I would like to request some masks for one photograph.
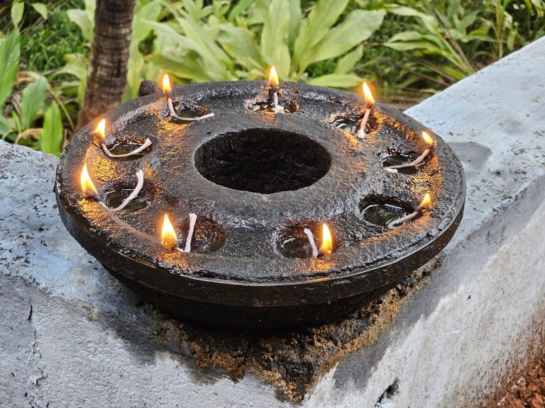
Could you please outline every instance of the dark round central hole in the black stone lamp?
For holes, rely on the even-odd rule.
[[[278,193],[310,186],[326,175],[329,153],[293,132],[248,129],[215,137],[195,152],[195,166],[220,186]]]

